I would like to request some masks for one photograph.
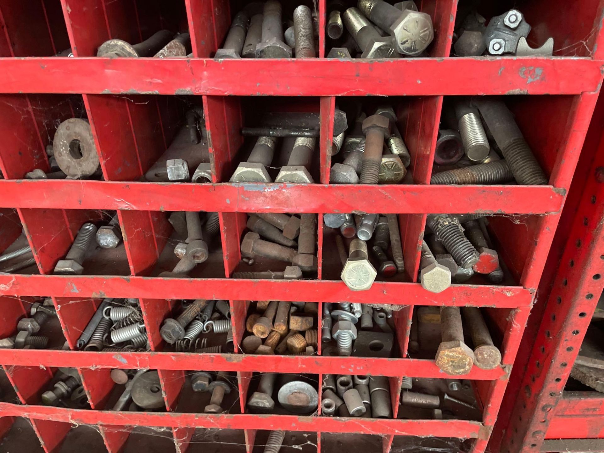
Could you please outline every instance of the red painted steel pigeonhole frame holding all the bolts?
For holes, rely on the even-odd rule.
[[[0,350],[0,363],[24,403],[0,403],[0,420],[4,422],[1,431],[10,426],[11,417],[28,417],[47,452],[59,450],[72,423],[99,425],[104,444],[112,453],[123,450],[129,427],[137,425],[172,428],[178,452],[187,450],[196,427],[243,430],[248,453],[254,448],[258,429],[316,433],[317,451],[321,451],[321,432],[357,432],[382,435],[384,453],[390,451],[395,435],[475,439],[472,452],[484,452],[602,83],[602,0],[586,1],[582,20],[574,27],[559,23],[560,15],[570,17],[570,11],[574,11],[572,5],[567,5],[570,2],[558,5],[557,14],[553,15],[548,2],[535,0],[527,5],[527,20],[538,25],[533,27],[538,40],[544,40],[542,30],[548,30],[556,42],[583,42],[585,45],[574,52],[577,57],[564,46],[556,49],[554,58],[449,58],[457,0],[420,0],[420,10],[431,15],[435,28],[434,43],[426,57],[375,62],[323,58],[329,45],[324,31],[325,0],[315,2],[320,23],[320,58],[222,61],[210,57],[223,42],[236,0],[182,0],[170,2],[170,10],[158,0],[33,3],[27,11],[19,0],[7,0],[0,6],[0,28],[4,30],[4,36],[0,36],[0,132],[4,137],[0,143],[0,169],[6,178],[0,181],[0,249],[13,242],[22,226],[42,275],[0,275],[4,307],[0,331],[14,334],[17,321],[31,303],[29,296],[52,297],[63,336],[73,347],[100,298],[136,297],[141,302],[152,352]],[[540,5],[547,8],[545,14]],[[28,21],[23,20],[26,15]],[[106,39],[138,42],[160,28],[188,28],[194,58],[94,57]],[[592,28],[596,31],[590,31]],[[69,46],[74,58],[50,57]],[[511,97],[510,104],[517,103],[516,118],[550,176],[551,185],[429,185],[443,96],[500,94],[543,95],[525,96],[522,100]],[[392,99],[399,129],[412,156],[413,185],[328,184],[335,106],[341,96],[365,95],[397,96]],[[226,183],[240,158],[240,127],[258,108],[250,107],[250,96],[255,96],[258,106],[275,101],[268,96],[282,96],[288,97],[292,108],[300,105],[320,112],[318,184]],[[182,124],[184,109],[188,108],[185,103],[204,108],[211,139],[213,184],[139,182],[171,143]],[[556,116],[553,112],[562,114]],[[534,127],[533,117],[538,114],[542,117],[541,127]],[[89,120],[104,181],[21,181],[34,168],[48,170],[45,147],[59,122],[69,117]],[[80,225],[99,219],[100,210],[118,210],[124,237],[119,249],[121,264],[126,269],[124,274],[129,275],[50,275]],[[165,211],[176,210],[219,213],[219,266],[196,275],[203,278],[149,277],[157,275],[156,268],[161,265],[172,234]],[[351,292],[341,281],[325,278],[330,257],[324,249],[324,236],[328,236],[322,214],[399,214],[407,265],[404,281],[413,282],[417,280],[418,245],[428,210],[530,214],[517,217],[520,220],[513,224],[492,217],[494,239],[501,246],[515,286],[454,285],[432,294],[417,283],[376,281],[369,291]],[[318,214],[316,280],[231,280],[240,261],[239,243],[246,212]],[[9,220],[11,223],[7,223]],[[508,230],[513,234],[506,234]],[[94,267],[95,263],[89,264]],[[206,271],[215,274],[206,275]],[[164,344],[158,327],[175,309],[175,300],[200,297],[230,302],[235,354],[162,352]],[[249,299],[316,301],[320,312],[323,303],[338,301],[403,306],[395,315],[402,358],[321,356],[321,338],[318,356],[239,354]],[[420,305],[485,307],[500,330],[503,365],[489,371],[474,367],[467,375],[459,376],[474,381],[478,405],[483,410],[481,422],[396,419],[402,376],[448,377],[432,360],[405,358],[413,311]],[[78,369],[92,410],[37,405],[56,368],[62,366]],[[114,390],[110,368],[158,370],[165,410],[170,413],[106,410],[108,395]],[[240,404],[235,411],[240,410],[241,414],[178,412],[185,373],[207,369],[236,372]],[[388,376],[394,419],[323,418],[320,413],[312,417],[248,414],[249,381],[255,371],[312,374],[317,376],[319,388],[325,373]]]

